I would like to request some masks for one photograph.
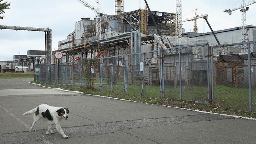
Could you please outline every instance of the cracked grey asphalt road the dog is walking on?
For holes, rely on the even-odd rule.
[[[29,84],[33,79],[0,79],[1,144],[184,144],[256,143],[256,121],[173,107],[149,105],[60,91]],[[67,107],[64,139],[39,121],[29,129],[40,104]]]

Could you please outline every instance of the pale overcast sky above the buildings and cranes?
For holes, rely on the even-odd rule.
[[[75,22],[80,18],[94,18],[95,13],[78,0],[4,0],[11,2],[5,10],[0,25],[39,27],[52,29],[52,50],[58,48],[58,41],[67,38],[75,30]],[[3,1],[3,2],[4,2]],[[85,0],[95,8],[95,0]],[[103,14],[114,15],[115,0],[99,0]],[[245,3],[251,0],[245,0]],[[152,11],[176,13],[176,0],[147,0]],[[124,0],[124,11],[144,9],[144,0]],[[240,26],[240,11],[228,15],[227,8],[241,6],[241,0],[182,0],[182,19],[197,14],[208,14],[208,21],[214,31]],[[246,24],[256,25],[256,4],[249,5],[246,12]],[[183,22],[185,32],[193,31],[194,22]],[[197,19],[199,33],[210,32],[204,19]],[[27,55],[27,50],[44,50],[45,33],[38,31],[0,30],[0,61],[12,61],[16,54]]]

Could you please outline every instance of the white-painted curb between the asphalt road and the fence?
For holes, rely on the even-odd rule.
[[[30,84],[35,84],[35,83],[30,83]],[[41,86],[41,84],[35,84],[35,85]],[[41,87],[45,87],[45,86],[41,86]],[[51,87],[46,87],[46,88],[51,88]],[[109,96],[84,94],[81,91],[69,91],[69,90],[63,90],[61,88],[56,88],[56,87],[54,87],[53,89],[56,89],[56,90],[59,90],[59,91],[74,92],[74,93],[83,94],[83,95],[97,96],[97,97],[100,97],[100,98],[108,98],[108,99],[116,99],[116,100],[121,100],[121,101],[136,102],[136,101],[131,101],[131,100],[127,100],[127,99],[112,98],[112,97],[109,97]],[[138,102],[138,103],[143,103],[143,102]],[[144,103],[144,104],[155,105],[155,104],[152,104],[152,103]],[[166,106],[166,105],[158,105],[158,106]],[[166,106],[166,107],[173,107],[173,106]],[[212,113],[212,112],[208,112],[208,111],[191,110],[191,109],[186,109],[186,108],[182,108],[182,107],[173,107],[173,108],[196,111],[196,112],[199,112],[199,113],[206,113],[206,114],[217,114],[217,115],[223,115],[223,116],[228,116],[228,117],[233,117],[233,118],[240,118],[240,119],[245,119],[245,120],[256,120],[256,118],[242,117],[242,116],[238,116],[238,115],[219,114],[219,113]]]

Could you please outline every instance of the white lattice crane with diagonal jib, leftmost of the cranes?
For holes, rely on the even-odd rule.
[[[97,9],[91,6],[89,3],[87,3],[84,0],[78,0],[80,3],[82,3],[85,7],[90,8],[92,11],[94,11],[96,15],[96,37],[97,39],[101,39],[101,17],[103,16],[102,13],[99,12],[99,0],[96,0],[96,3],[98,4]]]

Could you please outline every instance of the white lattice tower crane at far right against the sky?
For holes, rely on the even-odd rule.
[[[256,3],[256,1],[250,1],[248,3],[244,3],[244,0],[241,0],[242,4],[241,7],[237,7],[237,8],[233,8],[233,9],[228,9],[225,10],[224,12],[227,12],[229,15],[231,15],[232,11],[236,11],[238,9],[241,8],[241,40],[242,42],[246,41],[246,11],[249,10],[249,7],[247,7],[248,5],[254,4]]]

